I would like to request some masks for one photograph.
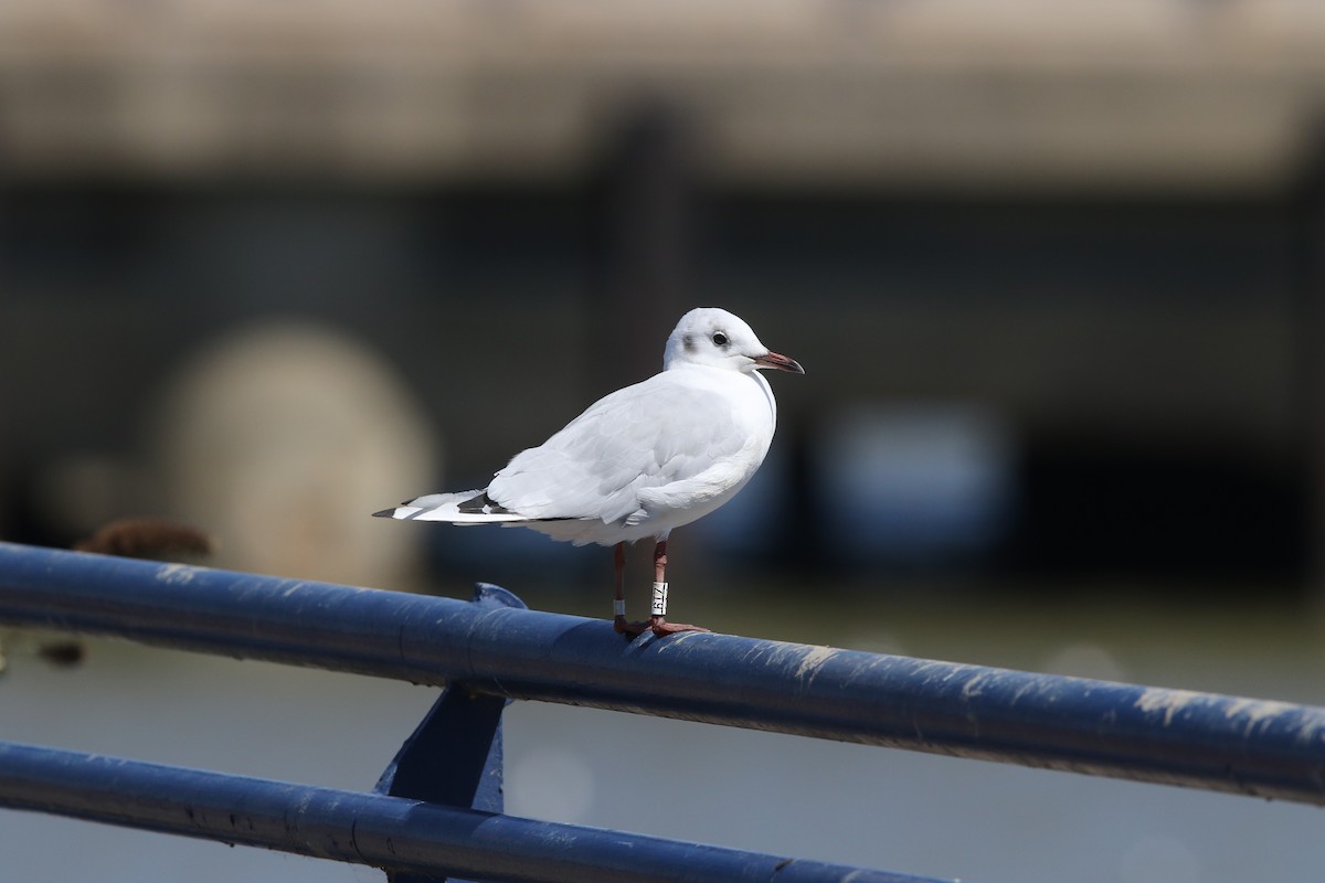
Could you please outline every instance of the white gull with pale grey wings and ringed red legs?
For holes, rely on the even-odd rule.
[[[666,340],[661,373],[594,402],[517,454],[488,487],[429,494],[374,515],[530,527],[575,545],[615,545],[617,631],[705,631],[665,618],[666,539],[735,496],[768,453],[778,405],[761,368],[804,373],[738,316],[690,310]],[[656,541],[652,616],[628,622],[625,544],[644,537]]]

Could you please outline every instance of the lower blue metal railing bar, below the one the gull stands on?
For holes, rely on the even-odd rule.
[[[0,743],[0,806],[261,846],[394,872],[470,879],[547,883],[930,880],[400,797],[15,743]]]

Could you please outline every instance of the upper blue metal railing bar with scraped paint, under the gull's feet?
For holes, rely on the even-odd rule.
[[[490,592],[501,592],[492,588]],[[0,543],[0,622],[1325,804],[1325,710]]]

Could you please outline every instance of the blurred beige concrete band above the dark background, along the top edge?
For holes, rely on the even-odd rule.
[[[750,185],[1255,187],[1322,42],[1287,0],[16,0],[0,128],[13,173],[546,177],[664,91]]]

